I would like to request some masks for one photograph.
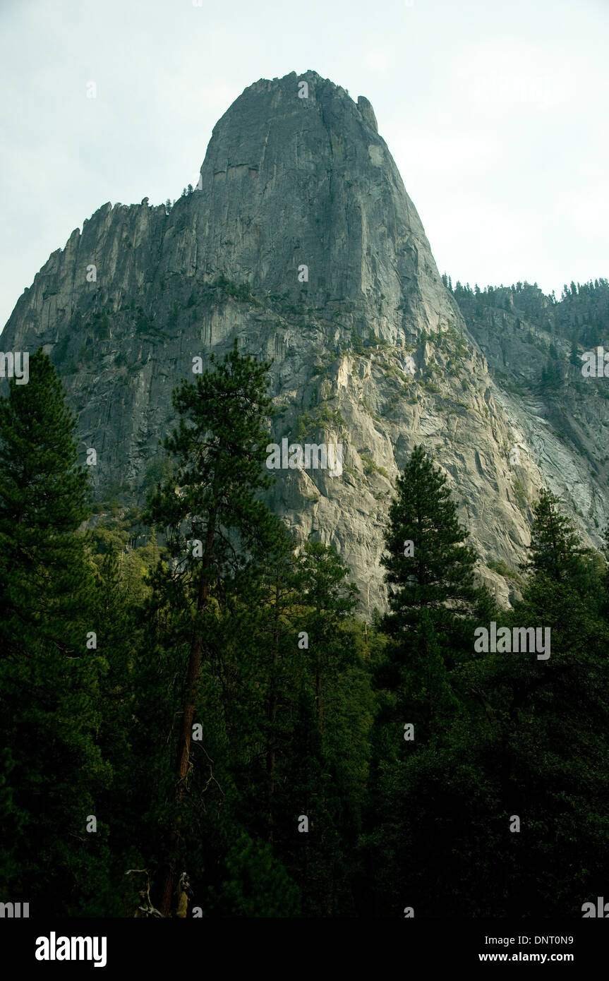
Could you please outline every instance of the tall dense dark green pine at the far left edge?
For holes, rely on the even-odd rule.
[[[1,874],[3,893],[9,886],[47,913],[99,908],[107,887],[97,865],[107,830],[92,796],[110,779],[96,744],[105,662],[77,533],[88,486],[75,435],[55,369],[38,351],[28,384],[12,380],[0,401],[0,742],[16,863]],[[99,826],[87,835],[89,814]]]

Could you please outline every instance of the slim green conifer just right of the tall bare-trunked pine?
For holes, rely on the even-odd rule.
[[[299,559],[298,629],[308,638],[302,657],[315,706],[310,725],[316,730],[306,765],[310,778],[319,771],[312,780],[317,787],[315,836],[309,835],[303,910],[305,915],[352,915],[352,852],[360,829],[372,722],[361,635],[352,621],[358,590],[330,545],[306,542]],[[299,751],[294,738],[292,756]],[[297,765],[304,767],[305,761]]]

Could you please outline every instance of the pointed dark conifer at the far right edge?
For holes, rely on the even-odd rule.
[[[467,725],[470,734],[478,728],[480,750],[466,751],[489,801],[482,825],[496,827],[476,887],[493,915],[578,915],[581,896],[600,895],[598,869],[609,856],[609,637],[597,612],[601,570],[556,504],[542,491],[534,507],[530,576],[522,601],[507,616],[510,626],[543,631],[550,656],[489,653],[470,662],[464,676],[483,709]],[[510,815],[535,834],[507,835]],[[453,847],[463,850],[460,842]],[[554,869],[551,883],[548,867]],[[485,885],[491,869],[498,892]]]

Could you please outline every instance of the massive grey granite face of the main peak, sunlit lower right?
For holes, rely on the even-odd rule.
[[[274,359],[270,441],[342,444],[340,476],[279,470],[270,498],[300,540],[335,546],[364,612],[384,605],[381,530],[417,442],[509,601],[485,563],[522,561],[543,475],[531,452],[510,462],[521,417],[438,276],[370,102],[314,72],[249,86],[213,131],[199,188],[169,212],[103,205],[25,290],[2,349],[51,353],[82,459],[97,451],[99,498],[135,500],[172,389],[234,337]]]

